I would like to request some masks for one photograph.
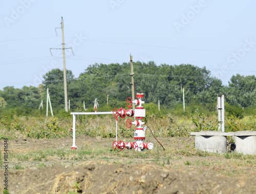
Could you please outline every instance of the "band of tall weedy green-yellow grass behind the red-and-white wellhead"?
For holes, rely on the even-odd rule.
[[[217,112],[211,115],[197,113],[191,116],[166,114],[156,117],[146,114],[145,122],[156,137],[187,137],[191,131],[215,130],[218,126]],[[203,117],[203,118],[202,118]],[[72,136],[71,117],[28,117],[13,116],[1,118],[0,137],[16,138],[63,138]],[[126,119],[118,119],[118,137],[131,138],[133,130],[127,129]],[[231,116],[225,117],[226,131],[256,130],[255,116],[244,116],[242,119]],[[197,127],[196,127],[197,126]],[[76,135],[115,137],[115,118],[112,115],[76,117]],[[146,129],[147,136],[153,137]],[[188,145],[187,145],[188,146]]]

